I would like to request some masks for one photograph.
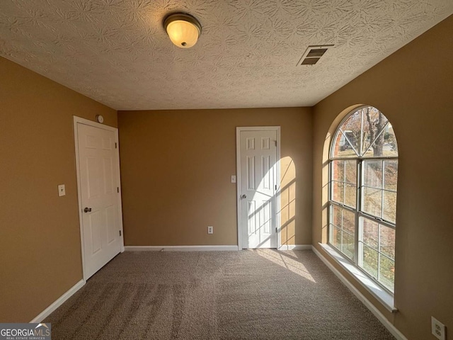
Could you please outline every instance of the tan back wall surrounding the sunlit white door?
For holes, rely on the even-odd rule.
[[[309,108],[120,111],[125,245],[237,244],[236,127],[259,125],[281,126],[283,243],[311,244],[311,123]]]

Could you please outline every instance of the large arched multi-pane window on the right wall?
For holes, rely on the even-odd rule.
[[[398,147],[377,108],[349,113],[330,154],[328,242],[393,293]]]

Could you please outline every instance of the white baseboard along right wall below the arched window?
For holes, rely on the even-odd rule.
[[[365,307],[367,307],[373,314],[375,317],[377,317],[377,319],[379,320],[379,322],[381,322],[384,327],[386,329],[388,329],[390,331],[390,333],[395,336],[396,339],[398,340],[408,340],[406,338],[406,336],[403,335],[403,333],[401,333],[401,331],[398,331],[398,329],[394,326],[394,324],[392,324],[389,319],[387,319],[386,317],[384,317],[384,314],[382,314],[382,312],[380,312],[376,307],[374,307],[374,305],[369,302],[369,300],[365,297],[365,295],[363,295],[362,293],[360,293],[359,290],[357,290],[357,288],[354,287],[354,285],[352,285],[352,283],[349,282],[349,280],[347,278],[345,278],[345,276],[343,276],[342,273],[340,273],[340,271],[338,271],[337,268],[335,268],[334,266],[332,266],[332,263],[330,263],[319,251],[318,249],[315,248],[315,246],[311,246],[311,249],[313,250],[314,254],[316,254],[319,259],[321,259],[321,261],[323,261],[323,263],[328,266],[328,268],[340,279],[340,281],[360,300],[362,301],[362,303],[365,305]]]

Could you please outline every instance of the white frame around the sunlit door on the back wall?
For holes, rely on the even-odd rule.
[[[280,239],[280,126],[246,126],[236,127],[236,205],[238,220],[238,249],[242,250],[242,221],[241,221],[241,131],[275,131],[277,132],[277,163],[276,175],[277,190],[275,191],[275,219],[277,225],[277,249],[282,246]]]

